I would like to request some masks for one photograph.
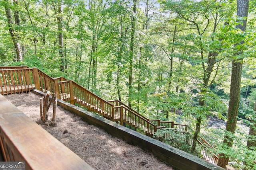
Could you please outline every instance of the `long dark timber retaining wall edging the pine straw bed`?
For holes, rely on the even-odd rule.
[[[34,90],[36,94],[42,95],[39,90]],[[86,111],[80,107],[74,106],[68,102],[58,99],[58,105],[64,107],[64,109],[75,113],[82,117],[84,121],[104,129],[106,132],[113,136],[124,139],[131,145],[141,147],[146,151],[150,151],[159,158],[166,162],[170,166],[178,170],[224,170],[219,166],[206,162],[192,154],[176,149],[165,143],[152,139],[146,135],[142,135],[136,131],[126,128],[122,125],[109,121],[103,117],[100,117],[94,113]]]

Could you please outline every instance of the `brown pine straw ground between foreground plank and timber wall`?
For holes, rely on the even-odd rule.
[[[40,120],[39,98],[35,94],[4,96],[48,133],[97,170],[172,170],[151,153],[89,125],[80,117],[57,106],[57,126]],[[52,106],[51,106],[52,107]],[[48,119],[52,118],[52,108]]]

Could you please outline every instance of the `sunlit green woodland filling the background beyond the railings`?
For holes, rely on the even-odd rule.
[[[190,125],[234,166],[254,169],[256,2],[248,3],[1,0],[0,65],[37,67],[150,119]],[[210,117],[228,120],[226,129],[208,128]]]

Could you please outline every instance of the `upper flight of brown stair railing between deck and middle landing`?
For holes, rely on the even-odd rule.
[[[47,90],[50,92],[56,91],[58,92],[58,98],[61,100],[70,102],[71,104],[79,104],[89,111],[94,111],[106,118],[113,119],[113,106],[106,100],[96,96],[72,80],[67,80],[64,77],[51,78],[40,70],[34,69],[33,71],[36,74],[35,77],[38,77],[38,81],[40,82],[36,86],[36,89],[40,88],[38,90],[42,92],[46,92]]]

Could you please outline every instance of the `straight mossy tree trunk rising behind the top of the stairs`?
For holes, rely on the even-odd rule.
[[[57,21],[58,21],[58,41],[59,41],[59,56],[60,56],[60,71],[65,71],[65,59],[64,59],[64,45],[63,45],[63,16],[62,16],[62,0],[59,1],[58,4],[58,13],[57,13]]]

